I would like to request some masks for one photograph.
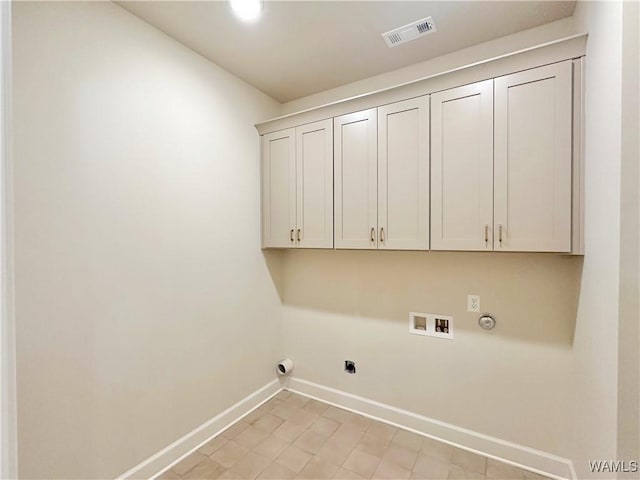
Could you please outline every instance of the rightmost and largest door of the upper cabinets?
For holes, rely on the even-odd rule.
[[[571,250],[571,62],[495,79],[495,250]]]

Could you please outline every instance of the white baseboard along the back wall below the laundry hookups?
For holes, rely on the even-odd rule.
[[[571,460],[557,455],[467,430],[296,377],[287,378],[284,388],[540,475],[558,480],[576,479]]]

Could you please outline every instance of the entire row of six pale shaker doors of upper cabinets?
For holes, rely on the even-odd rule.
[[[582,253],[581,62],[264,134],[263,246]]]

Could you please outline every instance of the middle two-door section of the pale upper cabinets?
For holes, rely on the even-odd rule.
[[[429,97],[334,119],[336,248],[429,249]]]

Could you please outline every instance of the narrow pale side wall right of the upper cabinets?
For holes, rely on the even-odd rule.
[[[571,443],[580,478],[588,460],[617,454],[620,273],[620,2],[578,2],[589,32],[585,92],[585,257],[574,339]],[[610,478],[603,473],[602,478]]]

